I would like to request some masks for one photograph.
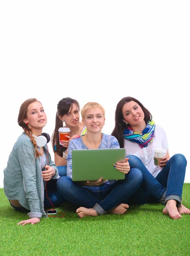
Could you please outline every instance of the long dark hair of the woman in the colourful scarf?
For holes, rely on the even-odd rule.
[[[118,140],[120,148],[124,148],[123,131],[129,126],[129,124],[126,125],[125,122],[123,122],[123,120],[122,120],[123,119],[122,108],[125,105],[125,103],[131,102],[131,101],[136,102],[142,108],[142,111],[145,114],[145,118],[144,118],[145,122],[152,119],[151,113],[137,99],[135,99],[133,97],[122,98],[116,106],[115,128],[113,129],[112,134],[111,134],[112,136],[115,136],[116,139]]]

